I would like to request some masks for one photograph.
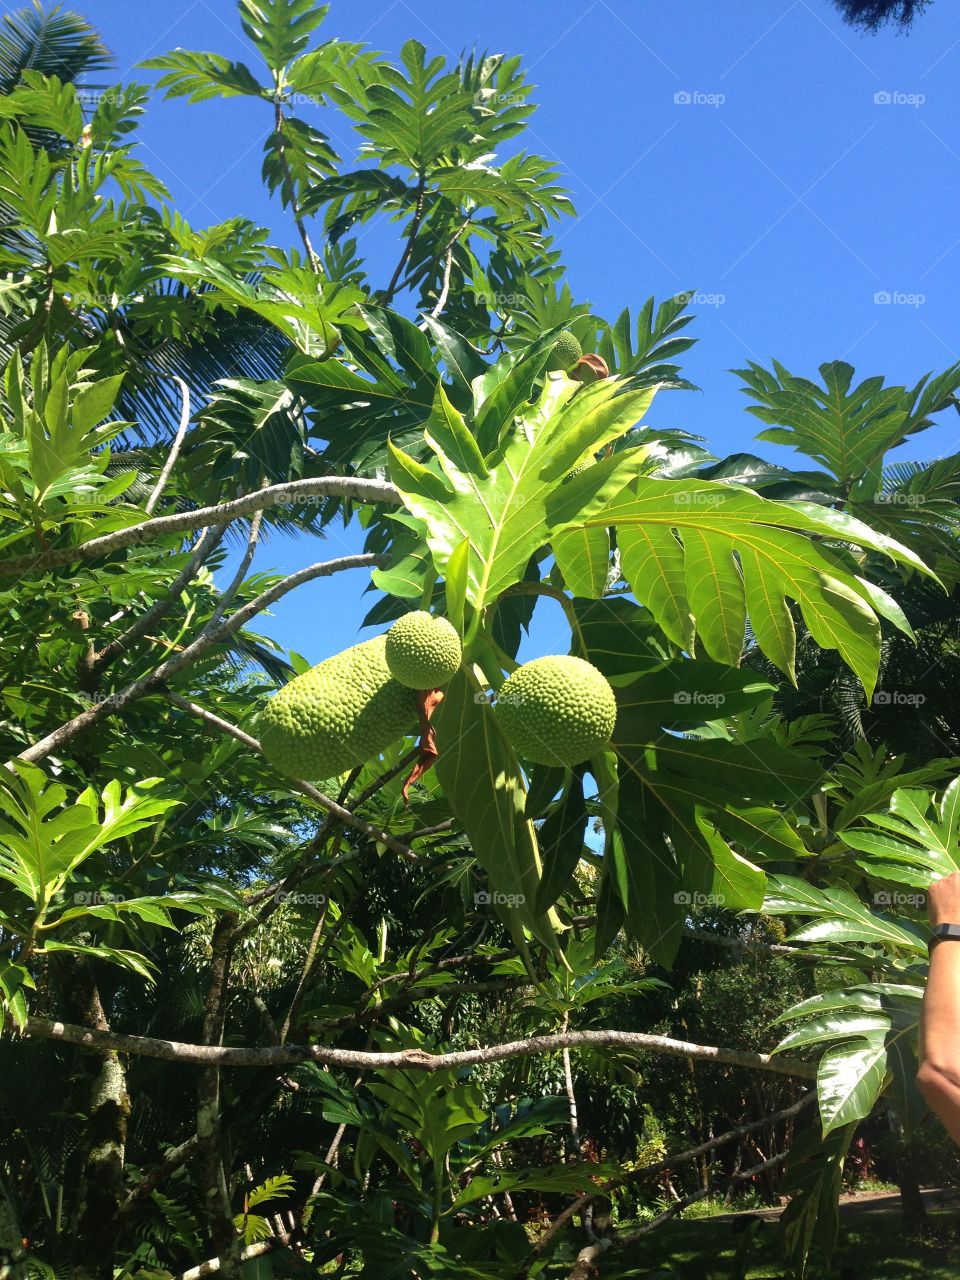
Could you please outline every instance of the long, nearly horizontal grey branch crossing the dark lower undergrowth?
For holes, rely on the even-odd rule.
[[[197,1066],[296,1066],[298,1062],[320,1062],[328,1066],[378,1070],[444,1071],[480,1062],[503,1062],[511,1057],[530,1057],[534,1053],[554,1053],[561,1048],[602,1048],[620,1046],[639,1053],[667,1053],[671,1057],[692,1057],[728,1066],[773,1071],[804,1080],[817,1076],[814,1062],[801,1062],[794,1057],[774,1057],[771,1053],[753,1053],[742,1048],[719,1048],[713,1044],[692,1044],[669,1039],[667,1036],[648,1036],[644,1032],[589,1030],[566,1032],[553,1036],[527,1036],[506,1044],[485,1044],[481,1048],[456,1050],[451,1053],[428,1053],[411,1048],[392,1053],[367,1053],[361,1050],[334,1048],[328,1044],[268,1044],[262,1047],[236,1047],[224,1044],[187,1044],[179,1041],[155,1039],[150,1036],[124,1036],[119,1032],[100,1032],[72,1023],[28,1018],[24,1034],[37,1039],[50,1039],[67,1044],[81,1044],[102,1052],[106,1048],[134,1057],[155,1057],[164,1062],[189,1062]]]

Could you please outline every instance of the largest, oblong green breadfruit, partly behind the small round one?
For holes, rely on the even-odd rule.
[[[416,699],[387,666],[376,636],[305,671],[260,717],[266,759],[294,778],[334,778],[365,764],[417,723]]]

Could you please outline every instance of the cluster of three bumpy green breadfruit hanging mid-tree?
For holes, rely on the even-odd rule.
[[[291,777],[338,777],[412,732],[417,691],[443,689],[462,650],[445,618],[417,611],[390,630],[296,676],[260,717],[264,755]],[[534,764],[573,765],[611,740],[613,690],[582,658],[535,658],[503,684],[494,713],[503,736]]]

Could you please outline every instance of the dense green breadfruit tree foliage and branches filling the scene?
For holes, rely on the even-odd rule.
[[[238,9],[250,65],[150,65],[262,104],[296,248],[170,206],[147,90],[82,87],[106,54],[76,15],[0,32],[0,1260],[507,1280],[572,1239],[582,1276],[611,1211],[755,1185],[791,1194],[800,1275],[858,1126],[916,1179],[960,456],[887,456],[960,366],[741,370],[796,468],[653,429],[689,296],[573,298],[518,59]],[[364,549],[311,561],[334,522]],[[287,577],[253,567],[274,531]],[[374,593],[358,640],[426,611],[461,663],[419,735],[291,777],[260,723],[332,654],[257,618],[340,572]],[[543,602],[616,692],[571,767],[495,710]]]

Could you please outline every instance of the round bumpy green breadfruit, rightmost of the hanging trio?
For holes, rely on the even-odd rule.
[[[581,764],[611,740],[617,700],[582,658],[534,658],[509,676],[494,708],[503,736],[534,764]]]

